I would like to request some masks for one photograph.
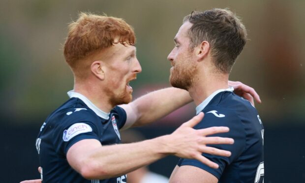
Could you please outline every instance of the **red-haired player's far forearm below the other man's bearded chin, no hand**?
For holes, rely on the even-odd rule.
[[[130,103],[138,114],[133,126],[156,121],[191,101],[188,91],[177,88],[166,88],[148,93]]]

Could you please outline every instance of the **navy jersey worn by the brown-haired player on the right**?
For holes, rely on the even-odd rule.
[[[228,133],[211,136],[234,139],[233,145],[209,145],[232,152],[230,157],[203,153],[219,165],[213,169],[194,159],[181,158],[178,166],[190,165],[213,174],[219,183],[263,183],[264,181],[264,127],[256,109],[231,89],[215,91],[196,108],[204,112],[203,120],[194,126],[203,129],[228,126]]]

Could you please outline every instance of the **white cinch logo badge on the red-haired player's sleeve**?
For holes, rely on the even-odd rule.
[[[92,131],[92,128],[89,124],[84,122],[78,122],[71,125],[68,129],[64,130],[62,133],[63,141],[67,142],[78,134],[86,133]]]

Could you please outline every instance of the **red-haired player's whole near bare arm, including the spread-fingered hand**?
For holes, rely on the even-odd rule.
[[[184,122],[172,134],[132,144],[102,146],[96,139],[84,139],[73,144],[67,152],[71,167],[86,179],[106,179],[131,172],[166,155],[197,159],[210,167],[217,164],[202,153],[230,156],[230,152],[207,147],[207,144],[233,144],[233,139],[206,137],[228,132],[227,127],[193,129],[203,118],[203,113]]]

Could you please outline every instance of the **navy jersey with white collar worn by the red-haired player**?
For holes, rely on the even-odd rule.
[[[36,139],[43,183],[126,183],[126,175],[107,180],[86,180],[68,163],[66,153],[76,142],[96,139],[104,145],[119,144],[119,129],[126,113],[115,107],[109,114],[80,93],[69,91],[70,99],[43,123]]]

